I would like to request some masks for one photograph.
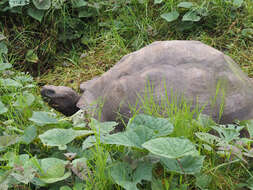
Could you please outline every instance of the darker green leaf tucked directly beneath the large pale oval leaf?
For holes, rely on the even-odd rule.
[[[204,161],[204,156],[184,156],[181,159],[161,158],[165,169],[170,172],[180,174],[196,174],[199,173]]]

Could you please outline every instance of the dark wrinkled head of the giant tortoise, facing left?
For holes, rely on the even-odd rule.
[[[69,87],[45,85],[40,93],[49,106],[66,116],[71,116],[79,110],[76,104],[80,96]]]

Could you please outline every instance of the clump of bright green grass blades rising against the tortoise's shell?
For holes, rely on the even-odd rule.
[[[159,99],[150,83],[146,85],[143,95],[139,95],[135,105],[130,105],[133,116],[139,113],[169,118],[174,125],[172,136],[184,136],[194,138],[197,131],[207,132],[210,128],[197,125],[196,119],[199,118],[205,105],[198,105],[197,100],[187,101],[182,94],[178,94],[174,89],[167,89],[164,83],[164,89],[161,90]]]

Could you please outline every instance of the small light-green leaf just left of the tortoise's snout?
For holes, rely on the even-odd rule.
[[[17,97],[17,100],[13,104],[13,106],[20,107],[20,108],[24,109],[24,108],[31,106],[33,104],[34,100],[35,100],[34,95],[25,91],[25,92],[23,92],[22,95],[19,95]]]

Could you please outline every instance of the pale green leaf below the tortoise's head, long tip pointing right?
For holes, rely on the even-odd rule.
[[[40,140],[47,146],[58,146],[59,149],[66,149],[66,144],[74,140],[76,137],[87,136],[94,134],[88,130],[73,130],[73,129],[51,129],[39,135]]]

